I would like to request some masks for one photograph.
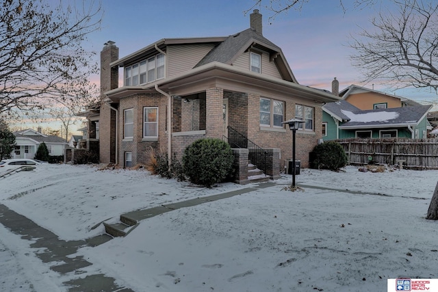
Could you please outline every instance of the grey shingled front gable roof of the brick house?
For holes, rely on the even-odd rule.
[[[252,48],[259,48],[263,51],[268,51],[270,53],[270,61],[276,62],[283,79],[298,83],[292,74],[292,70],[285,61],[285,57],[280,47],[276,46],[276,44],[251,28],[229,36],[205,55],[205,57],[194,66],[194,68],[211,62],[220,62],[231,65],[237,57]]]

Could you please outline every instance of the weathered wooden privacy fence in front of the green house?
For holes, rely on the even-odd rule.
[[[373,163],[404,168],[438,169],[438,139],[343,139],[336,140],[344,147],[349,164]]]

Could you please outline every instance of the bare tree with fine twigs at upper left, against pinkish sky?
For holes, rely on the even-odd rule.
[[[98,66],[82,43],[100,27],[101,3],[0,1],[0,115],[42,108],[44,98],[87,98]]]

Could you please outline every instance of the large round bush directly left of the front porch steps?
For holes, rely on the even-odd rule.
[[[184,150],[183,168],[189,181],[211,187],[233,172],[233,151],[220,139],[196,140]]]

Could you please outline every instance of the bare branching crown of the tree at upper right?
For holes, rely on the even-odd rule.
[[[374,31],[352,38],[352,64],[365,82],[378,79],[396,88],[438,89],[438,3],[395,1],[398,11],[372,18]]]

